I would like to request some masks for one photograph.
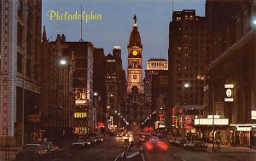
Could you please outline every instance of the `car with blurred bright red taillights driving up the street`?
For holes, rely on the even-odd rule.
[[[148,151],[166,151],[168,149],[168,146],[165,142],[160,141],[157,137],[152,137],[144,144],[146,150]]]

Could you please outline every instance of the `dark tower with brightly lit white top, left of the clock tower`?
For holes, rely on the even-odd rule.
[[[125,71],[122,66],[121,48],[113,46],[113,55],[106,56],[107,124],[110,131],[120,126],[121,108],[126,94]]]

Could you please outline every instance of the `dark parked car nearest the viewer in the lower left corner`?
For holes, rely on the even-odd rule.
[[[45,150],[40,144],[26,144],[19,152],[15,154],[16,161],[35,161],[47,156]]]

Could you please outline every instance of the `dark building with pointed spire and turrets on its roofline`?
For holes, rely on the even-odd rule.
[[[49,42],[44,27],[42,42],[41,126],[42,136],[58,141],[72,135],[73,51],[63,48],[64,34]]]

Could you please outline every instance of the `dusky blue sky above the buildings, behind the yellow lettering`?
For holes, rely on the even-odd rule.
[[[56,35],[65,34],[67,41],[79,41],[80,20],[49,20],[49,10],[59,14],[78,13],[81,5],[86,13],[102,14],[102,20],[83,21],[83,40],[103,48],[105,55],[112,53],[114,45],[121,46],[123,67],[127,69],[127,43],[137,14],[137,26],[143,43],[143,70],[150,58],[168,58],[168,28],[172,21],[172,0],[42,0],[42,27],[54,41]],[[205,15],[205,0],[173,0],[173,9],[195,9]]]

